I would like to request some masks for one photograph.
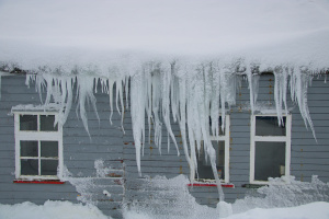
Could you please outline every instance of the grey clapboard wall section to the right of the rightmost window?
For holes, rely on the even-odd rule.
[[[295,108],[293,112],[292,134],[292,174],[299,181],[310,181],[318,175],[329,182],[329,84],[324,78],[315,78],[308,90],[308,106],[317,142],[311,131]]]

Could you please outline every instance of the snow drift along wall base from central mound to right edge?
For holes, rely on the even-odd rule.
[[[290,178],[291,184],[284,183],[284,178],[272,178],[269,186],[253,191],[243,199],[234,204],[222,203],[222,206],[230,207],[230,212],[226,215],[218,207],[215,209],[196,204],[188,191],[189,180],[183,175],[144,181],[138,189],[146,198],[126,206],[125,219],[328,218],[329,184],[317,176],[310,183]],[[317,206],[320,206],[318,210],[315,209]]]

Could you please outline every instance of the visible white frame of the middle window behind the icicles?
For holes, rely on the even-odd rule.
[[[220,115],[222,117],[222,115]],[[225,135],[223,136],[211,136],[211,141],[214,140],[218,140],[218,141],[224,141],[225,142],[225,161],[224,161],[224,175],[225,178],[222,178],[223,183],[229,183],[229,146],[230,146],[230,141],[229,141],[229,134],[230,134],[230,116],[229,115],[225,115]],[[218,157],[216,155],[216,159],[218,159]],[[195,178],[195,181],[197,181],[197,178]],[[215,183],[215,180],[205,180],[205,178],[198,178],[198,181],[206,181],[208,183]]]

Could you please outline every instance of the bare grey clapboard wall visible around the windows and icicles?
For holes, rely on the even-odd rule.
[[[232,203],[242,198],[246,184],[249,184],[250,170],[250,116],[248,83],[242,81],[237,91],[237,105],[229,111],[230,115],[230,157],[229,175],[234,188],[225,187],[226,201]],[[297,105],[288,103],[292,108],[292,157],[291,174],[299,181],[310,181],[311,175],[319,175],[324,182],[329,181],[329,89],[324,78],[315,78],[308,91],[308,105],[317,134],[317,142],[309,129],[306,129]],[[53,184],[18,184],[15,180],[14,123],[10,115],[11,107],[19,104],[38,105],[39,96],[33,85],[25,85],[25,76],[2,76],[0,102],[0,203],[16,204],[25,200],[43,204],[45,200],[79,200],[95,204],[105,214],[120,218],[121,204],[134,200],[147,201],[152,192],[146,191],[144,184],[157,175],[168,178],[185,174],[189,166],[177,124],[172,129],[179,143],[181,155],[175,148],[167,149],[167,131],[163,127],[162,151],[152,143],[145,145],[141,157],[143,177],[138,176],[135,146],[129,110],[124,115],[124,129],[121,116],[115,111],[110,125],[109,95],[97,93],[97,107],[100,123],[92,110],[88,111],[88,123],[91,138],[87,135],[82,122],[77,119],[75,106],[64,126],[64,165],[67,182]],[[290,99],[290,97],[288,97]],[[259,88],[259,103],[274,108],[273,76],[262,76]],[[257,112],[256,112],[257,113]],[[148,139],[148,131],[147,139]],[[152,140],[152,134],[150,136]],[[95,161],[102,161],[105,175],[98,174]],[[147,177],[146,177],[147,176]],[[140,188],[144,188],[140,191]],[[104,195],[111,193],[111,197]],[[218,201],[216,187],[189,187],[196,201],[215,206]]]

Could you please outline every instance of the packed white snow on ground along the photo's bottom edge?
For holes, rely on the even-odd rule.
[[[213,212],[216,212],[213,210]],[[97,207],[82,206],[71,204],[69,201],[46,201],[44,205],[35,205],[32,203],[23,203],[16,205],[0,205],[1,219],[110,219],[104,216]],[[156,219],[150,215],[143,212],[126,211],[124,219]],[[195,219],[211,219],[219,218],[215,215],[213,217],[198,217]],[[328,219],[329,218],[329,203],[317,201],[298,207],[290,208],[272,208],[262,209],[254,208],[242,214],[236,214],[226,219]],[[168,219],[173,219],[168,217]],[[181,218],[183,219],[183,218]],[[191,219],[191,218],[190,218]]]

